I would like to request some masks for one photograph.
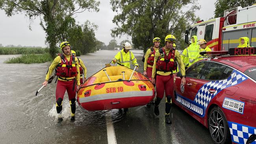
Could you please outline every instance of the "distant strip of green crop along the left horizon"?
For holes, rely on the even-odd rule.
[[[0,55],[45,54],[48,48],[0,48]]]

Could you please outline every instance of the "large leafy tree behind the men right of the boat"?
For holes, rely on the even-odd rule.
[[[112,37],[127,34],[132,37],[134,48],[152,46],[152,39],[160,37],[162,45],[168,34],[173,34],[185,48],[184,33],[195,22],[195,11],[200,7],[197,0],[111,0],[112,10],[117,12],[111,30]],[[183,12],[182,8],[189,6]]]

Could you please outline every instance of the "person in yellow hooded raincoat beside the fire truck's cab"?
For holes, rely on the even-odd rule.
[[[191,38],[191,44],[187,48],[188,58],[189,58],[189,65],[191,66],[193,63],[197,61],[195,58],[196,55],[199,53],[199,45],[197,44],[197,36],[193,35]]]

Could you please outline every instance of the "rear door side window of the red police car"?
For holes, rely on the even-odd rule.
[[[206,80],[219,80],[221,78],[222,73],[226,69],[226,66],[221,65],[219,63],[210,62],[205,68],[201,79]]]

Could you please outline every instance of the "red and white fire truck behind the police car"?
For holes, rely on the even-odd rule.
[[[186,30],[185,41],[197,35],[205,39],[213,51],[229,50],[239,45],[239,37],[248,37],[250,46],[256,46],[256,4],[224,11],[224,17],[198,21]],[[190,34],[190,35],[189,35]]]

